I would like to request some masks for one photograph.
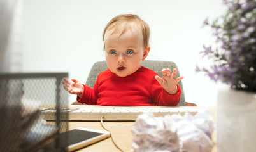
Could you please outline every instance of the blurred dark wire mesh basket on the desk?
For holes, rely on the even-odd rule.
[[[0,73],[0,151],[67,151],[68,93],[61,80],[68,73]],[[42,107],[56,109],[46,122]],[[48,146],[52,145],[52,146]]]

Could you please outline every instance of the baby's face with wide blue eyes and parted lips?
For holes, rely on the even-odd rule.
[[[126,77],[136,72],[145,60],[150,47],[143,45],[143,36],[139,30],[125,32],[106,31],[104,35],[106,63],[111,72]]]

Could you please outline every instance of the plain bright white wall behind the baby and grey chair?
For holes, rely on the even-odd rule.
[[[216,106],[217,85],[196,64],[209,65],[199,51],[211,44],[212,31],[201,28],[206,17],[224,13],[212,0],[24,0],[24,72],[69,72],[85,83],[92,64],[104,60],[103,29],[111,18],[134,13],[151,28],[148,60],[174,61],[185,98],[198,106]],[[75,101],[70,96],[70,102]]]

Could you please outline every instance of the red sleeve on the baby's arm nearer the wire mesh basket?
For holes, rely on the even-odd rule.
[[[95,89],[96,86],[94,86],[94,89],[92,89],[87,85],[83,85],[83,94],[81,98],[79,96],[76,97],[78,103],[85,103],[87,105],[97,105],[97,95]]]

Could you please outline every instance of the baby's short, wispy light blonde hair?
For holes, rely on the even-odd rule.
[[[127,30],[132,30],[132,25],[136,23],[139,30],[141,30],[143,35],[143,44],[144,46],[148,46],[148,41],[150,37],[150,28],[148,27],[148,24],[141,20],[138,15],[132,15],[132,14],[125,14],[125,15],[118,15],[115,16],[104,28],[103,32],[103,42],[104,42],[104,35],[106,34],[107,30],[113,30],[113,33],[115,32],[121,32],[120,35],[124,34]],[[122,28],[122,29],[120,29]],[[105,42],[104,42],[105,43]],[[104,44],[105,48],[105,44]]]

